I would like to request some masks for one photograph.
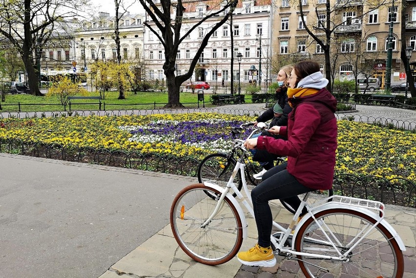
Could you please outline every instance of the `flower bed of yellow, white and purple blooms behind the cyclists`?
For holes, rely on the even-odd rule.
[[[227,151],[230,127],[253,117],[216,113],[1,119],[0,138],[139,151],[201,160]],[[416,181],[416,133],[338,121],[335,174]]]

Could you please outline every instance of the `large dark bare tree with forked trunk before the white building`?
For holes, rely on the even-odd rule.
[[[198,59],[204,48],[208,44],[208,40],[211,35],[222,26],[229,19],[229,12],[226,12],[223,17],[220,15],[229,8],[235,8],[238,0],[217,0],[212,2],[212,6],[219,7],[217,10],[211,10],[205,17],[202,17],[200,21],[195,22],[194,25],[181,34],[181,29],[184,19],[184,8],[182,0],[160,0],[160,5],[156,5],[152,0],[139,0],[142,6],[145,8],[146,13],[150,19],[154,22],[155,28],[159,29],[161,35],[153,28],[149,22],[145,21],[144,25],[160,40],[165,49],[165,63],[163,69],[166,76],[166,85],[168,92],[168,104],[165,107],[183,107],[179,102],[179,87],[180,85],[189,79],[198,63]],[[172,14],[173,13],[173,14]],[[179,44],[189,35],[193,30],[201,26],[202,23],[215,16],[218,17],[218,22],[212,26],[202,40],[195,56],[193,57],[190,66],[186,73],[175,76],[175,64],[176,53],[179,48]]]

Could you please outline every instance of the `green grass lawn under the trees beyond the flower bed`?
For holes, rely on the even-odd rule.
[[[212,107],[209,102],[209,96],[211,93],[205,93],[205,106]],[[89,92],[88,96],[99,96],[96,92]],[[118,100],[119,93],[116,91],[106,92],[105,99],[102,103],[105,103],[105,110],[130,110],[130,109],[153,109],[162,108],[167,103],[167,92],[138,92],[136,95],[133,92],[126,92],[126,99]],[[185,107],[198,107],[197,93],[181,92],[180,102]],[[251,97],[246,96],[246,102],[251,103]],[[64,107],[61,105],[57,97],[36,97],[26,94],[7,94],[5,101],[0,102],[0,111],[19,111],[18,103],[21,104],[21,111],[63,111]],[[73,100],[72,103],[97,103],[97,100]],[[155,105],[156,103],[156,105]],[[9,106],[10,105],[10,106]],[[202,102],[200,102],[202,107]],[[71,110],[98,110],[98,104],[85,104],[85,105],[71,105]],[[104,110],[104,105],[102,104]],[[66,107],[69,110],[69,107]]]

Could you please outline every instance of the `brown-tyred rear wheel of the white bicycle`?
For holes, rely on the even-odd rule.
[[[297,256],[307,278],[403,276],[403,254],[385,227],[378,224],[363,238],[375,219],[349,209],[330,209],[314,216],[335,247],[311,217],[296,235],[296,251],[338,257],[338,252],[345,254],[355,242],[361,241],[342,261]]]

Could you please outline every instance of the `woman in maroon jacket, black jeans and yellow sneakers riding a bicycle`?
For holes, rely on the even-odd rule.
[[[298,194],[332,188],[337,147],[336,100],[325,88],[327,85],[328,80],[323,78],[315,61],[295,64],[289,78],[288,100],[293,110],[288,126],[270,129],[288,140],[260,136],[244,143],[248,149],[287,155],[288,161],[267,171],[262,182],[251,191],[258,243],[248,252],[237,254],[243,264],[268,267],[276,264],[270,246],[270,200],[284,199],[297,209]]]

